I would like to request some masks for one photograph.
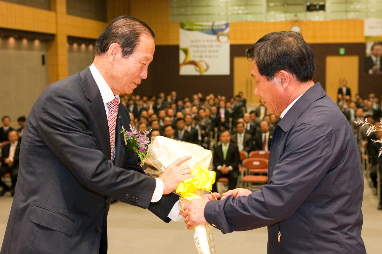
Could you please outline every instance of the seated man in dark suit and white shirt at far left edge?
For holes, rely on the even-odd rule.
[[[0,167],[0,196],[3,196],[6,191],[11,191],[11,195],[15,195],[15,186],[17,180],[17,174],[19,169],[19,155],[20,155],[20,144],[21,141],[18,140],[18,135],[16,130],[11,130],[8,132],[9,144],[6,144],[2,149],[1,167]],[[12,186],[9,188],[5,183],[2,182],[1,177],[4,174],[10,173]]]

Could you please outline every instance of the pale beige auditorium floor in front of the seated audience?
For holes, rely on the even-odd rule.
[[[12,198],[0,197],[0,239],[2,241]],[[377,210],[377,197],[365,186],[363,199],[364,224],[362,237],[368,254],[381,253],[382,211]],[[267,229],[233,232],[223,235],[214,229],[217,254],[266,253]],[[197,253],[192,231],[183,220],[163,223],[151,212],[121,202],[111,205],[108,215],[108,253]]]

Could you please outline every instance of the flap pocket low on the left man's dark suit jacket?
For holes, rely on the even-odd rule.
[[[71,235],[74,228],[73,219],[38,205],[33,207],[29,220],[66,235]]]

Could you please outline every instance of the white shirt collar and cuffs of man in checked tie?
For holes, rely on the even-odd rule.
[[[99,73],[97,68],[95,68],[94,63],[91,66],[89,66],[89,69],[90,69],[90,72],[92,73],[92,76],[94,77],[95,83],[97,83],[97,86],[98,86],[99,91],[100,91],[101,96],[102,96],[102,100],[104,101],[106,116],[108,116],[110,110],[107,107],[107,103],[114,100],[114,98],[117,98],[118,104],[119,104],[120,103],[119,94],[114,95],[112,89],[106,83],[105,79]],[[115,146],[114,146],[114,150],[115,150]],[[115,153],[114,153],[114,156],[115,156]],[[151,198],[152,203],[159,201],[163,195],[163,187],[164,186],[163,186],[162,180],[160,180],[159,178],[155,178],[155,180],[157,182],[157,185],[155,186],[155,190],[154,190],[154,193],[153,193],[152,198]],[[175,203],[174,207],[176,207],[176,209],[178,209],[178,202]],[[173,209],[174,209],[174,207],[173,207]],[[178,214],[176,214],[176,212],[171,210],[170,214],[168,214],[168,217],[172,220],[178,220],[177,218],[179,218],[179,211],[178,211]]]

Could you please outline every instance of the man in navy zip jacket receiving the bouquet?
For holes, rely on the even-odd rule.
[[[311,48],[301,34],[284,31],[264,35],[247,52],[254,93],[281,118],[268,184],[230,190],[223,200],[194,199],[185,206],[185,222],[210,223],[223,233],[268,226],[269,254],[365,254],[357,142],[340,109],[312,81]]]

